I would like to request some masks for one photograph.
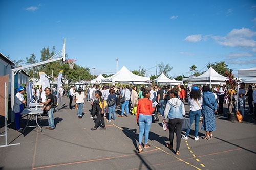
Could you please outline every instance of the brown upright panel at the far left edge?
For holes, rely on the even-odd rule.
[[[6,87],[5,87],[6,83]],[[0,115],[5,117],[5,109],[7,108],[8,112],[8,84],[9,84],[9,75],[1,76],[0,77]],[[6,89],[6,95],[5,95]],[[7,102],[5,102],[7,101]]]

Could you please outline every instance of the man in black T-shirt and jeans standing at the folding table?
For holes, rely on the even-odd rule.
[[[53,130],[55,129],[55,125],[54,125],[54,118],[53,118],[53,103],[54,103],[54,96],[51,93],[51,89],[46,87],[45,88],[45,93],[46,93],[46,101],[45,102],[41,102],[39,103],[40,105],[44,104],[44,107],[42,107],[42,110],[44,110],[46,108],[46,106],[51,105],[51,108],[49,111],[47,111],[47,115],[48,115],[48,127],[46,127],[46,129],[49,130]]]

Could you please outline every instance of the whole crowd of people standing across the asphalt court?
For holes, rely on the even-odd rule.
[[[60,87],[62,89],[62,87]],[[203,139],[210,140],[213,138],[212,132],[215,131],[215,115],[224,114],[223,104],[225,101],[225,96],[227,96],[229,103],[235,103],[238,100],[238,105],[236,107],[240,108],[241,114],[244,117],[244,107],[245,99],[249,105],[249,113],[252,114],[254,110],[254,116],[256,116],[256,90],[252,90],[252,86],[248,86],[248,91],[245,90],[245,84],[240,83],[240,88],[238,92],[226,89],[225,84],[221,84],[219,87],[215,86],[212,89],[209,86],[193,86],[191,90],[185,88],[184,85],[177,85],[173,88],[170,86],[154,86],[146,87],[142,86],[137,88],[137,86],[130,87],[126,85],[119,87],[103,85],[88,86],[86,89],[79,87],[75,90],[74,86],[71,86],[68,90],[59,89],[59,95],[63,96],[65,93],[70,99],[69,108],[73,109],[73,101],[77,106],[77,117],[81,119],[83,114],[83,106],[85,99],[87,102],[91,103],[91,118],[95,120],[95,126],[91,130],[100,129],[105,130],[105,120],[108,122],[116,121],[116,108],[121,110],[118,117],[128,117],[130,114],[135,114],[136,123],[139,126],[139,144],[138,153],[142,152],[142,147],[144,149],[150,148],[147,143],[148,135],[152,123],[152,114],[158,114],[163,117],[163,124],[166,123],[168,118],[169,127],[169,143],[166,147],[173,149],[173,139],[174,133],[176,132],[176,155],[180,154],[179,148],[181,143],[181,138],[188,140],[188,135],[190,133],[191,125],[195,121],[195,133],[194,140],[199,140],[199,122],[202,118],[201,130],[205,131],[205,136]],[[139,89],[139,90],[138,90]],[[26,102],[23,97],[24,88],[19,87],[17,89],[18,93],[15,96],[14,101],[14,112],[15,112],[15,128],[17,131],[22,132],[22,128],[19,126],[20,113],[23,110],[23,104]],[[44,110],[47,105],[52,104],[54,101],[54,95],[56,95],[54,87],[52,89],[45,88],[44,91],[38,93],[38,98],[40,99],[40,105],[44,105],[42,110]],[[34,96],[37,96],[37,90],[33,91]],[[236,96],[238,98],[236,99]],[[38,100],[38,98],[36,100]],[[156,103],[157,105],[153,105]],[[185,130],[185,134],[181,136],[183,117],[185,116],[184,102],[189,105],[189,119],[190,128]],[[219,106],[217,110],[217,105]],[[235,105],[235,104],[234,104]],[[55,129],[54,119],[53,119],[53,107],[46,111],[48,115],[48,127],[49,130]],[[144,135],[144,144],[142,143]]]

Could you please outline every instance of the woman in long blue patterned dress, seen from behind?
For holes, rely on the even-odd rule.
[[[203,86],[203,123],[201,130],[205,131],[204,139],[210,140],[213,137],[212,131],[215,130],[215,113],[217,113],[217,102],[214,94],[211,93],[209,86]]]

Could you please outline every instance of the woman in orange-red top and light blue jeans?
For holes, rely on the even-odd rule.
[[[152,112],[153,107],[152,107],[152,101],[149,99],[150,98],[150,90],[148,88],[143,88],[142,89],[142,95],[144,98],[140,99],[138,101],[137,105],[137,115],[136,115],[136,120],[137,120],[137,125],[139,125],[140,132],[139,132],[139,151],[138,153],[142,152],[142,138],[144,134],[144,148],[150,148],[150,145],[147,144],[148,140],[148,135],[150,133],[150,126],[152,122]]]

